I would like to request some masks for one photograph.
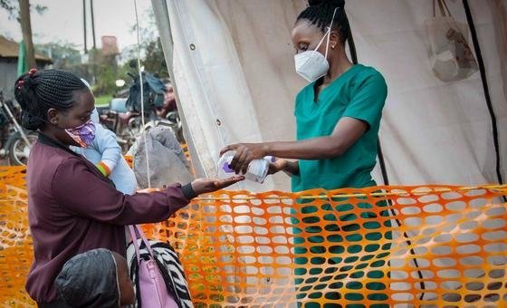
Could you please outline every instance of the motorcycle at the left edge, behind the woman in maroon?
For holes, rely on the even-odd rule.
[[[14,101],[5,101],[0,91],[0,158],[8,159],[9,165],[26,165],[30,149],[37,140],[35,131],[24,130],[19,125],[20,109]]]

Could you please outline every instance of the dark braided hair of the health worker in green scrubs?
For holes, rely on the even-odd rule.
[[[331,24],[334,10],[338,8],[331,29],[340,33],[340,41],[345,44],[349,38],[350,26],[344,7],[345,0],[308,0],[308,7],[299,14],[296,23],[307,20],[325,33]]]

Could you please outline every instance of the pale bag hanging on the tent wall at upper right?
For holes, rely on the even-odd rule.
[[[443,82],[466,79],[478,70],[474,53],[467,42],[468,26],[454,20],[445,0],[432,1],[433,18],[426,20],[431,69]],[[436,4],[439,16],[436,15]]]

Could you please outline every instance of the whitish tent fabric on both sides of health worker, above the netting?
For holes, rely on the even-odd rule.
[[[507,178],[505,59],[495,36],[495,0],[489,1],[470,5]],[[454,18],[466,23],[462,2],[447,3]],[[304,6],[302,0],[167,0],[174,81],[196,147],[193,159],[206,175],[215,172],[216,153],[225,143],[293,140],[293,100],[304,82],[293,69],[291,29]],[[346,10],[359,63],[377,68],[387,80],[380,140],[391,184],[497,182],[479,73],[440,82],[429,68],[425,21],[432,16],[432,0],[349,1]],[[378,168],[374,177],[382,183]],[[277,189],[287,184],[282,176],[274,180]],[[271,188],[268,183],[256,190]]]

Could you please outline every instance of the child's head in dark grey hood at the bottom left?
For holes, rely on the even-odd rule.
[[[135,301],[127,261],[104,248],[74,255],[55,286],[59,298],[72,307],[120,307]]]

